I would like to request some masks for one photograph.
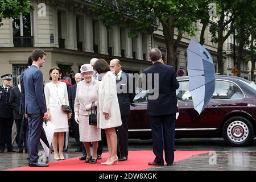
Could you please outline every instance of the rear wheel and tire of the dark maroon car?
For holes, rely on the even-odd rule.
[[[222,128],[222,137],[231,146],[246,146],[254,138],[254,127],[244,117],[232,117],[225,122]]]

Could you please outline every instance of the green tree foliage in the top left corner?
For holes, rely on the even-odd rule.
[[[0,0],[0,26],[3,18],[19,18],[30,11],[30,0]]]

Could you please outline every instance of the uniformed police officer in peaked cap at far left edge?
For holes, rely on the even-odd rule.
[[[13,109],[9,105],[11,92],[11,74],[1,76],[3,85],[0,87],[0,152],[15,152],[11,144],[11,129],[13,128]]]

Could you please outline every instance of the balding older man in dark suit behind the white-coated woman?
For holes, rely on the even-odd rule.
[[[133,103],[133,98],[135,97],[135,88],[134,85],[129,85],[129,77],[132,80],[132,76],[122,71],[121,63],[118,59],[111,60],[109,65],[117,81],[117,97],[122,119],[122,125],[117,127],[117,156],[119,161],[123,161],[128,159],[127,117],[131,114],[130,104]],[[133,88],[129,89],[131,86]],[[129,90],[132,90],[132,92],[129,92]]]

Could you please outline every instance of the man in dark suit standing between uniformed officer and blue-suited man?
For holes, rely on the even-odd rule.
[[[19,114],[20,111],[20,96],[21,96],[21,88],[20,88],[20,76],[17,77],[18,86],[15,86],[11,89],[10,93],[10,106],[13,108],[13,118],[16,124],[17,129],[17,140],[18,140],[18,153],[23,152],[23,140],[24,146],[26,147],[26,123],[24,123],[23,115]]]

